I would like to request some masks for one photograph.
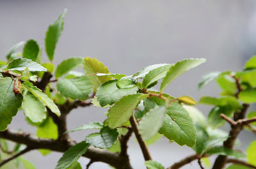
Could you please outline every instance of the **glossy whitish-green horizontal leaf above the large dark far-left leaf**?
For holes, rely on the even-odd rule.
[[[7,70],[24,71],[26,68],[29,71],[46,71],[41,64],[26,58],[13,59],[7,66]]]

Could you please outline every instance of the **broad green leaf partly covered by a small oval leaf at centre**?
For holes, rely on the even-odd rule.
[[[135,94],[137,91],[137,86],[119,89],[116,86],[116,80],[109,80],[99,87],[96,96],[100,105],[104,107],[106,105],[113,105],[113,103],[123,96]]]

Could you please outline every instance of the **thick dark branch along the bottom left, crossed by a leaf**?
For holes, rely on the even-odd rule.
[[[15,131],[2,131],[0,132],[0,138],[10,140],[17,143],[22,143],[31,147],[31,149],[48,149],[56,152],[65,152],[74,144],[72,142],[61,142],[60,140],[50,140],[44,138],[37,138],[27,133],[15,132]],[[122,158],[119,154],[106,151],[103,149],[97,149],[89,147],[83,157],[93,159],[93,161],[100,161],[107,163],[115,168],[132,169],[129,160]]]

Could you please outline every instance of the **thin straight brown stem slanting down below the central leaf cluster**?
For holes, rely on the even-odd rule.
[[[136,136],[136,138],[137,138],[137,140],[140,144],[140,148],[141,148],[141,151],[143,153],[145,161],[152,160],[152,158],[150,156],[150,153],[148,151],[147,145],[141,138],[141,135],[140,135],[139,129],[138,129],[138,123],[137,123],[133,114],[130,118],[130,122],[131,122],[132,130],[134,131],[135,136]]]

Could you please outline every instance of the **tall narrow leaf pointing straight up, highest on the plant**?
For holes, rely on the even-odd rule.
[[[60,17],[58,17],[58,19],[48,27],[48,30],[45,33],[45,52],[50,61],[53,59],[56,44],[58,43],[61,31],[63,30],[63,20],[66,13],[67,10],[65,9],[63,13],[61,13]]]

